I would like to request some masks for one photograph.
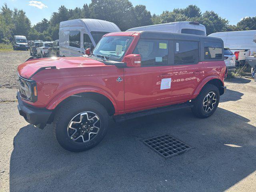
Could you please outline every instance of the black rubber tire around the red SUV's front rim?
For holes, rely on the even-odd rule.
[[[68,125],[72,118],[82,112],[93,112],[100,118],[100,130],[92,140],[85,143],[77,143],[68,136]],[[88,150],[104,138],[108,128],[108,112],[97,101],[90,98],[72,99],[61,106],[54,118],[54,135],[58,143],[66,150],[72,152],[81,152]]]

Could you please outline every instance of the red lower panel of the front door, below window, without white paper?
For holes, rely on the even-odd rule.
[[[124,109],[142,110],[171,102],[171,89],[160,89],[161,80],[170,78],[172,66],[124,69]]]

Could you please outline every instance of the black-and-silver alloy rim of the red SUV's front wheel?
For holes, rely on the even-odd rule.
[[[100,118],[94,112],[79,113],[68,124],[68,137],[76,143],[89,142],[98,134],[100,126]]]

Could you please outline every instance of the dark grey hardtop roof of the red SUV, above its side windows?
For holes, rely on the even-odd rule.
[[[200,41],[200,39],[207,40],[221,40],[221,38],[200,36],[184,33],[168,33],[168,32],[156,32],[156,31],[140,31],[140,38],[152,38],[152,39],[170,39],[170,40],[194,40]]]

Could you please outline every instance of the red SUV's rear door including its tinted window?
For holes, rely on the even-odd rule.
[[[172,103],[191,99],[204,77],[204,64],[199,62],[198,41],[174,41]]]

